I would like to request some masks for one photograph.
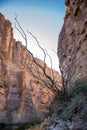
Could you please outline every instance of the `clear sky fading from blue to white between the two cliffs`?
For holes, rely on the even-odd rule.
[[[58,70],[57,52],[58,35],[63,25],[65,15],[64,0],[0,0],[0,12],[12,22],[14,28],[15,13],[26,32],[29,30],[39,40],[40,45],[46,48],[53,59],[53,68]],[[23,38],[14,28],[16,40]],[[34,39],[28,36],[28,49],[34,56],[43,60],[43,54],[35,44]],[[50,66],[49,59],[47,64]]]

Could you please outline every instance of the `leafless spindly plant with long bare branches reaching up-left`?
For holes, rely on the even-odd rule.
[[[15,17],[15,22],[17,23],[18,27],[16,26],[15,23],[15,27],[16,29],[20,32],[20,34],[22,35],[22,37],[25,39],[26,42],[26,48],[27,48],[27,36],[24,32],[24,30],[22,29],[20,23],[17,20],[17,15]],[[29,51],[29,53],[32,56],[32,62],[30,65],[27,65],[27,67],[29,68],[32,76],[36,79],[38,79],[40,82],[42,82],[47,88],[49,88],[57,97],[59,98],[65,98],[65,93],[63,91],[61,91],[61,85],[58,82],[58,79],[55,77],[54,75],[54,71],[52,69],[52,58],[51,56],[48,54],[46,49],[43,49],[37,39],[37,37],[35,37],[31,32],[27,31],[27,33],[35,39],[38,47],[42,50],[43,54],[44,54],[44,62],[43,64],[41,64],[40,62],[38,62],[37,58],[33,57],[33,54]],[[50,72],[47,71],[48,67],[46,65],[46,57],[49,57],[50,59],[50,63],[51,63],[51,69]],[[33,67],[36,67],[36,72],[34,72]]]

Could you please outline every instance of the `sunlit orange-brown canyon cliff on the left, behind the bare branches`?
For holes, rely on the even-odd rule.
[[[11,23],[0,14],[0,123],[42,120],[49,114],[53,93],[32,76],[31,63],[31,53],[13,39]]]

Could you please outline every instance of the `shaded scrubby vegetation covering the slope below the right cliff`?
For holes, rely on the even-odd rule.
[[[50,106],[51,117],[41,123],[34,123],[23,130],[51,130],[56,127],[62,130],[74,130],[76,127],[85,127],[87,121],[87,80],[79,79],[70,87],[68,100],[55,101]],[[18,129],[22,130],[22,129]]]

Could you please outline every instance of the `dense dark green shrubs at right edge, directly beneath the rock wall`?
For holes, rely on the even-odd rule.
[[[60,104],[62,108],[60,117],[69,120],[79,115],[87,119],[87,80],[77,80],[70,88],[70,94],[70,100]]]

